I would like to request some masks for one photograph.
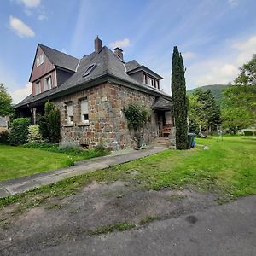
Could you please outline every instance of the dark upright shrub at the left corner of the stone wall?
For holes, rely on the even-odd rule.
[[[55,105],[52,102],[45,102],[44,118],[49,133],[49,141],[51,143],[58,143],[61,138],[61,117],[60,111],[55,109]]]

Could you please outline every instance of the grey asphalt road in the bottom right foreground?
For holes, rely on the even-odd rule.
[[[135,230],[46,247],[31,255],[256,255],[256,195]]]

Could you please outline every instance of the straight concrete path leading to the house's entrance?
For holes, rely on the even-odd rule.
[[[151,154],[160,153],[166,149],[166,146],[154,146],[153,148],[139,151],[133,149],[125,150],[91,160],[82,160],[72,167],[61,168],[49,172],[40,172],[26,177],[15,177],[13,179],[0,182],[0,198],[20,194],[28,190],[38,188],[42,185],[58,182],[67,177],[83,174],[84,172],[93,172],[109,166],[115,166],[131,160],[137,160]]]

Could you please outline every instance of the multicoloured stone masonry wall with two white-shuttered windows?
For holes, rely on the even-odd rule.
[[[80,120],[79,99],[85,96],[89,103],[89,125],[81,124]],[[73,102],[73,125],[67,125],[65,119],[65,102],[70,101]],[[90,148],[100,143],[112,150],[134,147],[133,134],[127,128],[122,112],[129,102],[140,102],[145,108],[151,109],[154,96],[106,83],[55,100],[55,106],[61,111],[62,139],[78,141]],[[152,112],[150,123],[145,129],[144,143],[151,143],[156,137],[156,124],[156,117]]]

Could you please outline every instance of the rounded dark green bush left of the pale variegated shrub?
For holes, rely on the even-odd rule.
[[[9,133],[9,143],[11,145],[27,143],[29,125],[31,125],[30,119],[14,119],[13,123],[11,124],[11,130]]]

